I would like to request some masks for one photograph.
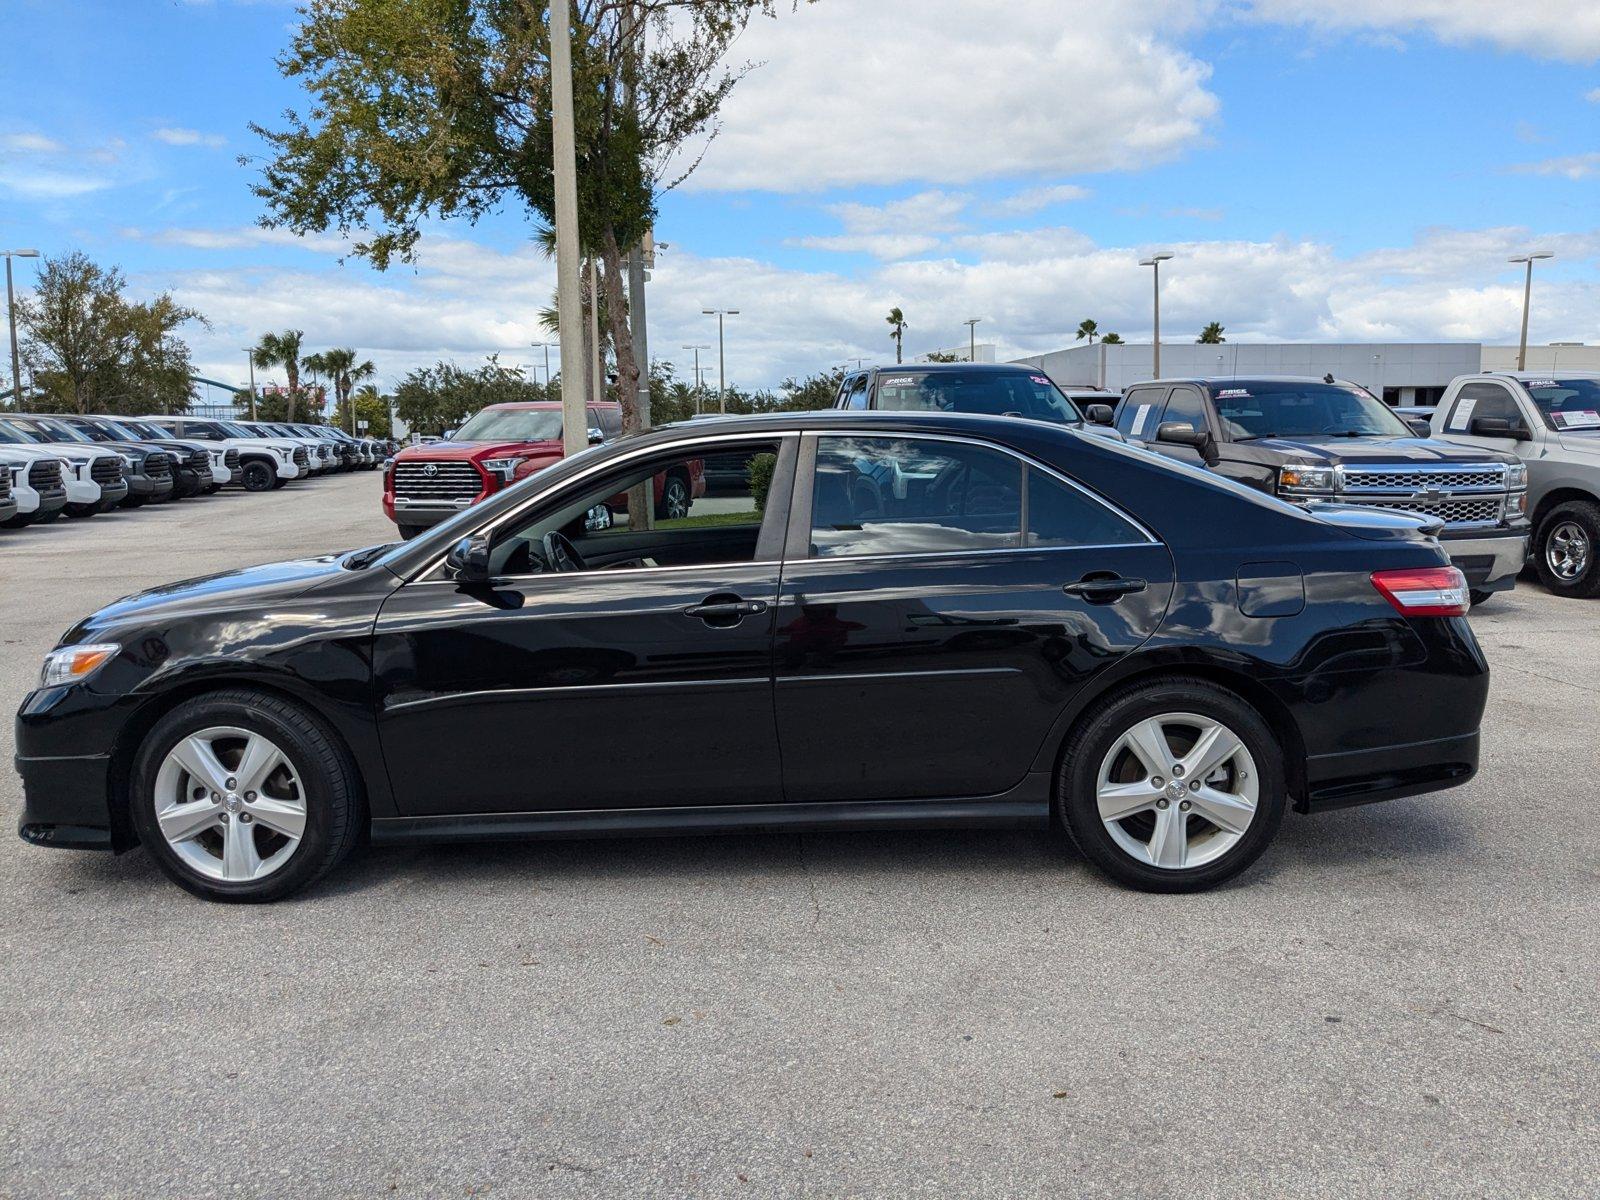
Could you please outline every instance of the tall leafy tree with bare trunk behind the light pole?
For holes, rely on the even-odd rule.
[[[774,3],[574,0],[579,242],[602,267],[624,427],[640,419],[624,251],[654,222],[658,194],[694,168],[674,155],[715,133],[747,69],[723,56]],[[354,234],[379,269],[410,261],[429,221],[515,205],[552,224],[549,64],[544,0],[307,0],[278,69],[309,109],[251,126],[269,147],[262,222]]]

